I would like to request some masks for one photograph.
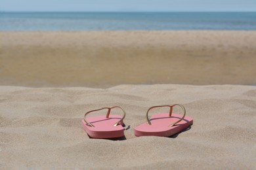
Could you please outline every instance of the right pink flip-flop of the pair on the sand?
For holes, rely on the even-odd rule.
[[[183,111],[183,115],[174,114],[173,107],[179,106]],[[158,113],[148,118],[148,112],[151,109],[157,107],[170,107],[169,112]],[[163,106],[154,106],[150,107],[146,112],[146,122],[135,127],[135,136],[160,136],[160,137],[169,137],[175,133],[188,128],[193,124],[193,119],[189,116],[186,116],[186,110],[182,105],[163,105]]]

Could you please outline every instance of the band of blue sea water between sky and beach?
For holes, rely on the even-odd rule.
[[[0,31],[256,30],[256,12],[0,12]]]

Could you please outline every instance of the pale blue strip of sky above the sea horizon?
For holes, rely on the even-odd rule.
[[[256,12],[256,0],[0,0],[0,11]]]

